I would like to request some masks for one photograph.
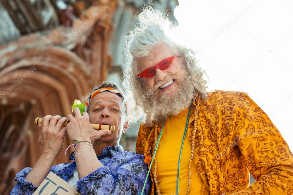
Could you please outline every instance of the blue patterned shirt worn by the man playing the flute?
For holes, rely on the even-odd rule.
[[[143,155],[124,151],[122,146],[116,145],[104,148],[97,158],[104,166],[78,180],[77,192],[81,194],[138,194],[142,191],[148,172]],[[74,162],[55,165],[50,169],[66,182],[76,170],[74,152],[71,153],[69,160]],[[25,181],[31,169],[27,167],[16,174],[14,181],[17,181],[17,184],[10,194],[34,193],[38,187]],[[150,182],[147,181],[144,194],[148,194],[149,188]]]

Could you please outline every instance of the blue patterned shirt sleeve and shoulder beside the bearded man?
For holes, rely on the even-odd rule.
[[[124,151],[107,165],[91,172],[77,182],[81,194],[139,194],[147,176],[147,164],[143,155]],[[129,158],[128,156],[131,155]],[[150,182],[147,180],[144,194],[148,194]]]

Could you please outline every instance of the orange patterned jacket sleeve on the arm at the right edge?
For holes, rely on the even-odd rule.
[[[236,194],[292,194],[293,155],[272,121],[244,92],[236,111],[235,135],[241,158],[256,180]]]

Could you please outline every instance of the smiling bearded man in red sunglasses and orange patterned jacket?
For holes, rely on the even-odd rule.
[[[136,151],[151,194],[292,194],[293,155],[268,115],[244,92],[206,92],[195,53],[168,31],[147,6],[125,44],[127,112],[145,117]]]

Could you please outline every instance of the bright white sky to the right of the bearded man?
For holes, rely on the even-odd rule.
[[[293,2],[179,0],[179,4],[174,34],[196,49],[209,76],[208,90],[246,92],[293,151]],[[225,25],[225,32],[220,32]]]

